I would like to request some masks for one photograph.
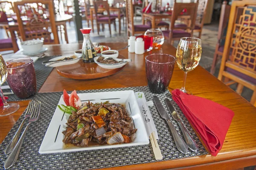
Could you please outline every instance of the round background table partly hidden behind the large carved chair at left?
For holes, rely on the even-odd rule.
[[[67,41],[67,29],[66,29],[66,22],[68,20],[71,20],[73,18],[72,15],[69,15],[69,14],[63,14],[63,15],[59,15],[59,14],[56,14],[54,16],[55,18],[55,23],[56,23],[56,29],[57,30],[62,30],[64,29],[63,31],[65,32],[65,40]],[[17,22],[14,22],[14,21],[9,21],[9,22],[0,22],[0,26],[8,26],[9,27],[9,31],[11,33],[11,38],[12,38],[12,43],[13,44],[13,50],[14,52],[17,52],[19,51],[19,47],[18,47],[18,44],[17,44],[17,37],[16,37],[16,34],[15,32],[18,33],[18,36],[19,36],[19,26],[18,26],[18,23]],[[63,26],[63,28],[61,28],[61,26]],[[59,27],[59,28],[58,28]],[[62,35],[61,35],[62,37]],[[68,43],[68,41],[67,41]]]

